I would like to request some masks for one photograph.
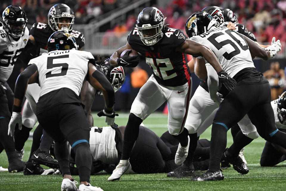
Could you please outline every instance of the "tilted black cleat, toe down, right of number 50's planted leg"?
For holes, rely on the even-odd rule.
[[[243,162],[239,155],[232,155],[228,148],[226,148],[223,155],[226,157],[226,160],[232,164],[234,170],[240,174],[247,174],[249,172],[247,165]]]

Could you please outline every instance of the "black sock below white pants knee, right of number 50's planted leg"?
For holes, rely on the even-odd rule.
[[[231,127],[232,128],[232,127]],[[233,144],[229,147],[229,151],[234,156],[239,155],[240,150],[243,149],[246,145],[253,141],[252,138],[245,136],[242,131],[238,131],[237,135],[234,138]]]

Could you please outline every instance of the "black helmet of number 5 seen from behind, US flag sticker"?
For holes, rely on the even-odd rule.
[[[70,50],[73,48],[77,50],[77,43],[74,37],[65,31],[57,31],[53,33],[47,44],[48,52],[53,50]]]

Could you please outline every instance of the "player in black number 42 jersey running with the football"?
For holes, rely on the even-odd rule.
[[[123,141],[122,160],[117,165],[109,181],[118,180],[131,168],[130,152],[139,133],[139,125],[165,101],[168,103],[168,130],[180,142],[175,156],[175,163],[182,164],[188,155],[188,148],[194,150],[197,136],[188,136],[184,128],[191,93],[191,77],[186,64],[185,53],[203,56],[217,71],[220,84],[229,91],[235,81],[222,70],[217,58],[206,46],[190,41],[179,29],[167,27],[164,16],[156,7],[147,7],[139,13],[136,27],[130,32],[125,46],[120,47],[110,57],[111,64],[123,67],[135,67],[139,56],[128,57],[132,51],[119,58],[127,49],[134,49],[145,56],[153,75],[140,89],[133,101]],[[192,156],[189,157],[192,164]]]

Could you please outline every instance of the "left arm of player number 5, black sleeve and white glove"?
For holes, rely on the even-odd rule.
[[[18,76],[15,91],[14,91],[14,104],[13,113],[11,120],[9,122],[8,135],[13,137],[15,131],[15,125],[19,124],[19,130],[22,129],[22,115],[21,115],[21,105],[23,98],[26,93],[28,84],[33,84],[38,82],[38,67],[35,64],[28,66],[21,74]]]

